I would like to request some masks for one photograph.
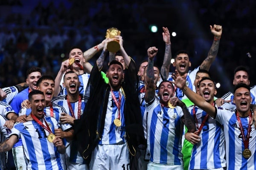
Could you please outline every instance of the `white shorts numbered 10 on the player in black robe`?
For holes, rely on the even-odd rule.
[[[98,144],[93,150],[90,170],[129,170],[129,151],[125,144]]]

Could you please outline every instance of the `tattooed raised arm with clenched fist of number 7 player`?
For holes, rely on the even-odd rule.
[[[155,97],[156,85],[154,84],[154,57],[157,55],[156,47],[148,48],[148,66],[146,67],[146,77],[144,79],[146,92],[145,102],[151,102]]]

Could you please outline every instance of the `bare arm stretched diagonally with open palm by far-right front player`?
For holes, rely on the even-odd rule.
[[[185,74],[184,77],[186,77],[186,75],[187,74]],[[207,101],[205,101],[202,96],[192,91],[186,85],[186,79],[180,77],[177,70],[175,70],[175,74],[172,74],[172,77],[175,80],[175,82],[172,83],[174,83],[177,86],[177,88],[180,88],[183,91],[183,93],[191,100],[191,102],[193,102],[199,108],[206,111],[211,117],[215,117],[215,107],[209,104]]]

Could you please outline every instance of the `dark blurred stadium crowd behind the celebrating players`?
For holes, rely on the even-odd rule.
[[[195,68],[207,56],[213,40],[209,25],[216,23],[223,26],[223,36],[210,71],[227,90],[233,87],[236,66],[247,65],[251,77],[256,74],[252,69],[256,54],[255,5],[253,0],[0,1],[0,87],[24,82],[31,66],[55,76],[70,47],[76,45],[85,51],[102,42],[111,27],[121,30],[126,51],[138,63],[146,58],[149,46],[162,50],[156,63],[163,63],[161,27],[176,29],[181,34],[171,38],[172,54],[181,49],[189,51]],[[166,24],[160,23],[163,19]],[[158,33],[149,31],[153,23],[160,24]],[[251,79],[251,85],[255,82]]]

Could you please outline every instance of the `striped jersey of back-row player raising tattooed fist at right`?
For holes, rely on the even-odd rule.
[[[193,84],[195,81],[195,75],[199,69],[200,69],[200,66],[195,68],[193,71],[189,70],[187,77],[186,77],[186,85],[194,92],[196,92],[196,90],[195,90],[195,86]],[[169,73],[169,77],[167,78],[167,80],[174,81],[174,79],[172,79],[172,74],[173,73]],[[187,97],[185,96],[185,94],[183,94],[183,92],[182,92],[182,90],[180,90],[180,88],[176,88],[175,94],[176,94],[177,98],[179,98],[180,100],[187,99]]]

